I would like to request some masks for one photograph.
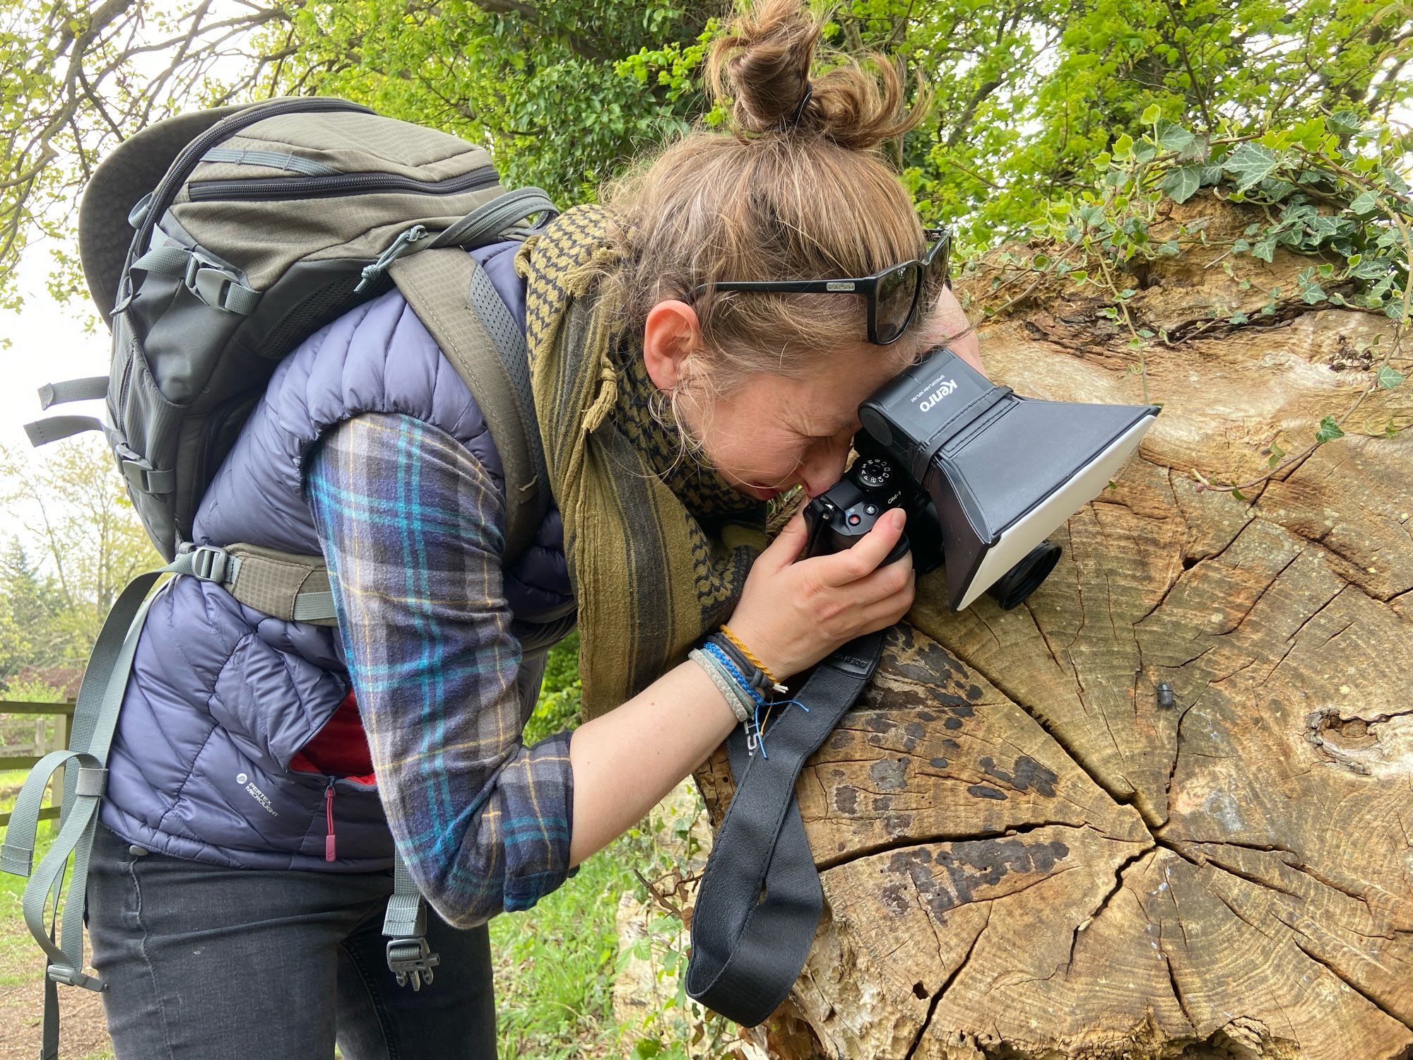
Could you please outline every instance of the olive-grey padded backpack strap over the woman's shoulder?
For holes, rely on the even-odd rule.
[[[550,507],[524,332],[461,247],[410,254],[391,277],[480,406],[504,472],[506,557],[517,557]]]

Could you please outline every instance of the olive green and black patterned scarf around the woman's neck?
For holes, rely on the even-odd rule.
[[[766,544],[767,506],[681,455],[649,413],[642,339],[601,284],[626,256],[601,206],[526,240],[526,339],[545,464],[579,606],[588,718],[617,707],[725,622]]]

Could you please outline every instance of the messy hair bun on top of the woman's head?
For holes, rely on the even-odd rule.
[[[732,100],[743,133],[821,134],[841,147],[869,151],[921,120],[903,112],[903,85],[882,55],[872,69],[831,52],[829,69],[811,79],[822,24],[800,0],[756,0],[738,16],[706,59],[714,100]]]

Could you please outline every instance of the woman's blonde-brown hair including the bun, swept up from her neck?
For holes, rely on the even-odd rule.
[[[712,99],[732,100],[733,129],[687,133],[602,195],[629,247],[613,283],[630,334],[642,335],[657,302],[691,302],[716,391],[759,372],[801,376],[828,353],[862,348],[866,310],[863,298],[831,294],[697,297],[699,284],[870,276],[923,250],[911,198],[880,151],[921,109],[904,110],[899,73],[877,55],[831,52],[811,73],[820,31],[800,0],[759,0],[706,62]],[[910,331],[926,317],[920,307]],[[875,352],[903,358],[910,345]]]

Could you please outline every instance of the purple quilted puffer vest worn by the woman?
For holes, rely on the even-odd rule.
[[[519,243],[473,252],[524,325]],[[301,492],[305,455],[359,413],[403,413],[465,445],[502,483],[480,408],[396,290],[309,336],[276,369],[202,499],[195,538],[318,555]],[[571,598],[560,513],[504,572],[517,619]],[[538,666],[527,657],[527,704]],[[240,868],[365,872],[393,864],[377,789],[291,769],[349,690],[338,632],[284,622],[225,589],[175,578],[154,599],[137,644],[109,755],[100,820],[129,842],[177,858]],[[526,708],[528,712],[528,705]],[[326,862],[332,791],[338,858]]]

